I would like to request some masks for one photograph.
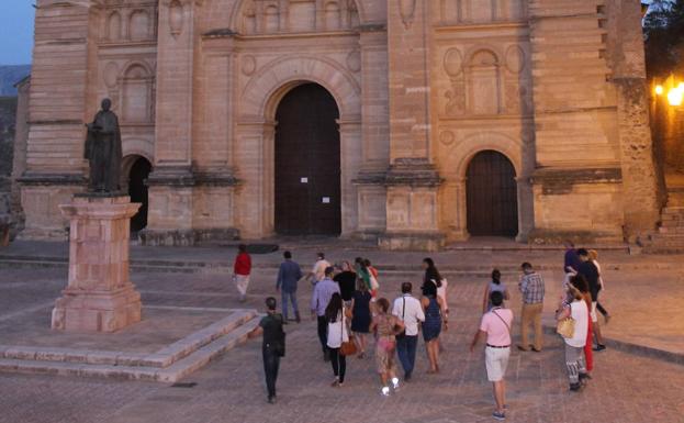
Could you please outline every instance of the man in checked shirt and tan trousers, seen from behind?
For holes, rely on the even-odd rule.
[[[541,350],[541,312],[543,310],[543,279],[541,275],[532,269],[532,265],[529,263],[523,263],[523,276],[518,288],[523,294],[523,323],[520,327],[522,343],[518,345],[519,350],[529,350],[531,347],[534,352],[539,353]],[[529,324],[535,326],[535,344],[528,343],[527,331]]]

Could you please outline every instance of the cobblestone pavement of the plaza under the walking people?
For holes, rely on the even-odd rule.
[[[134,274],[132,277],[147,304],[238,305],[226,275]],[[658,311],[668,294],[674,292],[682,298],[682,288],[673,287],[672,278],[675,276],[652,270],[615,274],[606,298],[616,316],[615,327],[620,320],[630,319],[631,308],[638,310],[636,315],[640,319],[643,310]],[[553,280],[554,276],[549,279]],[[651,281],[651,296],[647,296],[649,289],[643,283],[633,296],[629,289],[621,288],[639,280]],[[2,324],[34,312],[31,309],[43,308],[49,312],[49,302],[59,294],[65,281],[66,271],[60,269],[0,271],[0,342]],[[397,282],[384,280],[383,288],[389,290]],[[272,275],[256,275],[250,307],[260,308],[263,296],[272,293]],[[301,291],[300,303],[305,309],[311,289],[302,287]],[[450,281],[450,301],[457,314],[456,325],[444,336],[442,372],[425,374],[427,364],[421,342],[414,381],[389,399],[379,396],[372,357],[350,358],[346,386],[330,388],[332,369],[321,360],[315,324],[306,321],[287,329],[288,357],[281,365],[276,405],[265,402],[260,344],[253,341],[188,377],[186,382],[198,383],[193,388],[1,374],[0,423],[492,421],[491,387],[485,380],[483,354],[479,350],[471,355],[467,350],[476,327],[481,296],[482,281],[469,278]],[[512,304],[517,316],[515,299]],[[668,314],[662,316],[663,322],[669,319]],[[46,316],[46,324],[47,321]],[[658,334],[660,321],[651,321],[651,332]],[[545,344],[540,354],[513,353],[507,372],[507,421],[684,422],[684,366],[607,350],[596,355],[590,387],[581,393],[570,393],[561,341],[547,335]]]

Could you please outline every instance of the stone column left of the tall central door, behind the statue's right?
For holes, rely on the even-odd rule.
[[[155,163],[149,175],[147,245],[192,245],[194,19],[197,0],[159,2]]]

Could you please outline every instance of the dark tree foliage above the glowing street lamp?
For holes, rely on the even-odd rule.
[[[654,0],[643,20],[646,67],[650,78],[666,77],[684,59],[684,0]]]

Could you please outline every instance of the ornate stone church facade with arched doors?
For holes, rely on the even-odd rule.
[[[147,244],[435,249],[633,240],[659,220],[639,1],[87,4],[38,1],[23,237],[63,236],[104,97],[124,174],[152,168]]]

